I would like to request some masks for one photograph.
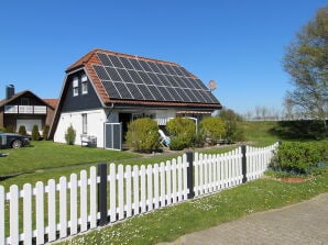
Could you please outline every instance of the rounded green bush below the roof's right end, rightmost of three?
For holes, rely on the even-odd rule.
[[[211,138],[211,144],[216,144],[226,134],[226,123],[219,118],[205,118],[201,120],[200,134]]]

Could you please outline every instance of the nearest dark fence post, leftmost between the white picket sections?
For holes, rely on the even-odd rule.
[[[107,224],[107,164],[98,164],[98,176],[100,182],[98,185],[98,211],[100,212],[99,225]]]

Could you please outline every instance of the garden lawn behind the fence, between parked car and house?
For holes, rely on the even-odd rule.
[[[31,147],[2,149],[9,156],[0,158],[0,176],[31,172],[39,169],[113,162],[139,157],[130,152],[105,151],[57,144],[48,141],[32,142]]]

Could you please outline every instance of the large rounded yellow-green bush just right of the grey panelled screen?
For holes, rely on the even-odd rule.
[[[127,144],[135,152],[151,153],[160,147],[158,125],[149,118],[138,119],[128,125]]]

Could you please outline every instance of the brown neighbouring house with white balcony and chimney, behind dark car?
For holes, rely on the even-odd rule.
[[[40,99],[29,90],[15,93],[14,86],[7,86],[6,99],[0,101],[0,129],[13,127],[18,132],[20,125],[24,125],[31,134],[37,125],[42,132],[53,121],[56,101]]]

